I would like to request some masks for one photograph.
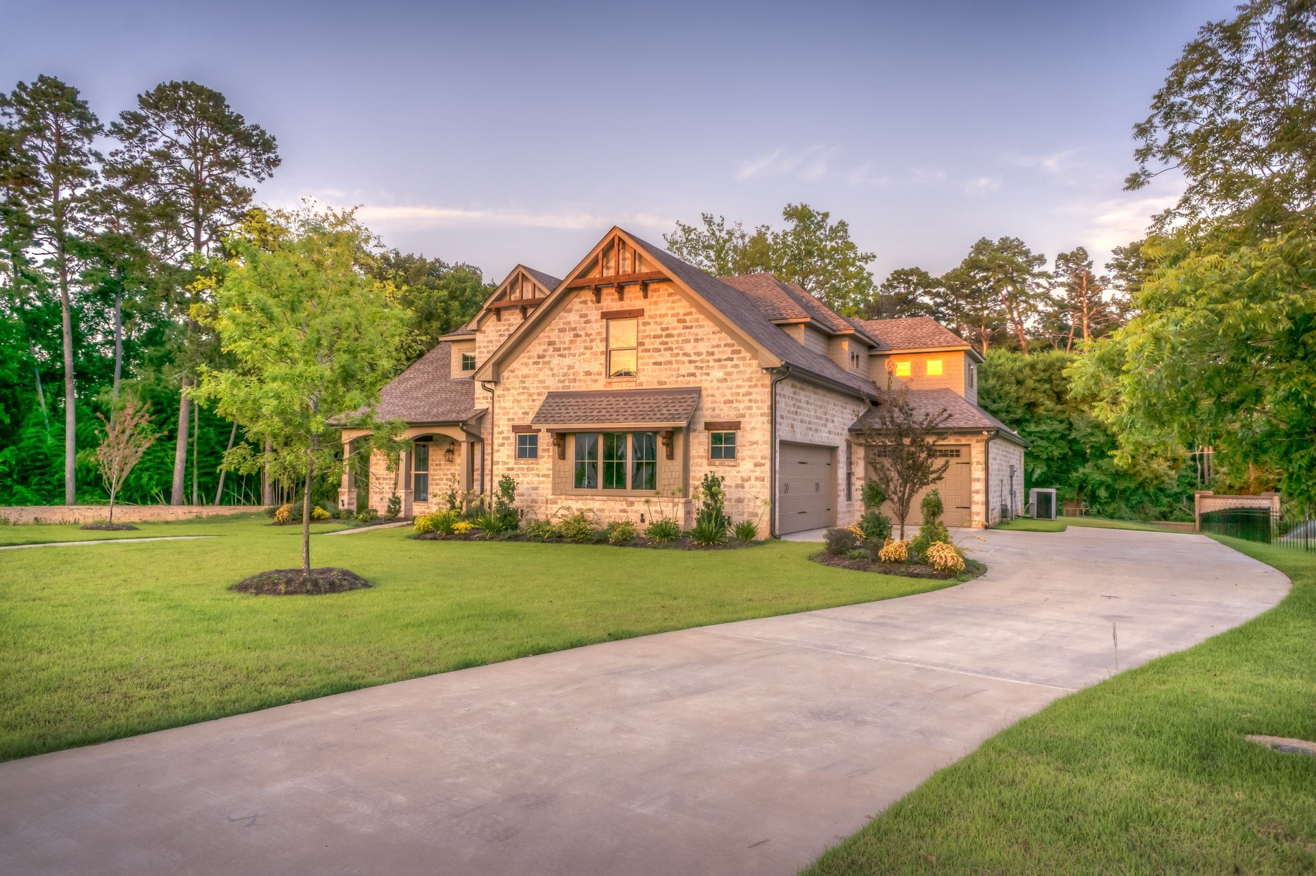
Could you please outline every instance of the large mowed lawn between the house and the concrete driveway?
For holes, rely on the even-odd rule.
[[[26,529],[26,527],[13,527]],[[245,596],[295,567],[300,527],[161,523],[187,542],[0,551],[0,758],[12,759],[530,654],[937,589],[812,563],[817,545],[730,551],[312,539],[374,588]]]

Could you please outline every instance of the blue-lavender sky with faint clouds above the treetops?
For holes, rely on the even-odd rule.
[[[0,0],[0,87],[57,75],[108,121],[195,79],[278,137],[261,201],[361,205],[491,279],[563,272],[613,224],[659,243],[805,201],[880,280],[983,235],[1099,260],[1138,237],[1178,187],[1121,191],[1130,128],[1232,5]]]

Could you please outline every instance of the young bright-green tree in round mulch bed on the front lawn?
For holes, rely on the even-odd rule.
[[[304,484],[301,571],[309,575],[312,483],[346,462],[336,459],[338,429],[372,430],[376,443],[392,434],[374,405],[403,362],[407,313],[391,283],[362,270],[362,254],[378,243],[350,210],[271,218],[274,226],[226,245],[230,259],[207,324],[234,364],[204,368],[195,395],[267,449],[240,445],[226,466],[267,466],[280,480]]]

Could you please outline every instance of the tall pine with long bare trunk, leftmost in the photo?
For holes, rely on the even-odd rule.
[[[78,500],[78,405],[74,379],[72,249],[86,230],[86,199],[97,179],[92,141],[100,120],[78,89],[53,76],[20,82],[0,95],[0,120],[11,128],[8,150],[30,178],[18,189],[32,220],[32,238],[46,256],[59,292],[64,354],[64,504]]]

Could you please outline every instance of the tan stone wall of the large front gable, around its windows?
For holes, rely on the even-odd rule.
[[[561,479],[554,489],[557,454],[551,434],[538,433],[538,459],[516,459],[512,426],[529,425],[550,391],[700,387],[699,406],[688,433],[678,437],[675,458],[667,460],[659,449],[659,480],[678,483],[683,496],[690,496],[705,471],[716,472],[726,479],[726,510],[732,518],[761,520],[766,530],[765,504],[770,499],[769,375],[757,358],[724,334],[670,283],[651,284],[647,299],[638,297],[634,288],[622,301],[612,289],[604,291],[597,303],[588,289],[571,295],[551,322],[503,366],[492,416],[486,417],[492,429],[492,480],[496,483],[503,475],[515,477],[517,502],[536,517],[588,508],[605,522],[621,518],[638,522],[640,514],[647,520],[658,505],[654,496],[609,496],[601,491],[582,495],[563,491]],[[607,321],[600,314],[630,309],[644,309],[638,326],[636,376],[608,379],[604,363]],[[737,459],[708,458],[708,433],[703,427],[708,420],[740,421]],[[566,450],[570,452],[570,441]],[[676,481],[665,476],[670,475],[672,464],[683,467]],[[683,526],[694,522],[690,501],[670,496],[665,501],[667,513],[675,510]]]

